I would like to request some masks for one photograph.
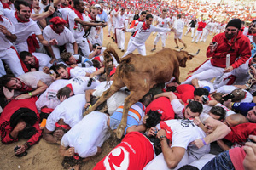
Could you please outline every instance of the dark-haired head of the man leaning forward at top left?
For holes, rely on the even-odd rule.
[[[15,1],[15,9],[20,20],[23,20],[25,22],[29,21],[31,16],[30,7],[31,5],[26,1]]]

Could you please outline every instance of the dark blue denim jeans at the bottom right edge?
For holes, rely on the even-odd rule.
[[[230,159],[229,150],[226,150],[209,161],[201,170],[235,170]]]

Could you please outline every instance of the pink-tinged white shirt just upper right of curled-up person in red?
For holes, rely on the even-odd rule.
[[[43,94],[40,95],[39,99],[36,101],[38,111],[42,107],[46,106],[51,109],[55,109],[57,105],[61,104],[61,101],[57,98],[58,90],[65,87],[68,80],[60,79],[53,82],[49,88],[47,88]]]

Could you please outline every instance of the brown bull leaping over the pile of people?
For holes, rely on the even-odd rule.
[[[107,48],[104,57],[109,60],[113,54],[117,54],[113,48]],[[120,88],[127,87],[131,94],[125,98],[124,112],[121,123],[116,130],[117,137],[120,139],[124,132],[127,122],[128,111],[131,105],[135,104],[148,93],[150,88],[159,83],[168,82],[172,77],[179,82],[179,66],[186,67],[188,59],[192,59],[195,54],[189,54],[186,51],[176,51],[170,48],[164,48],[159,52],[147,56],[140,54],[129,54],[121,59],[113,78],[113,84],[105,91],[95,105],[84,112],[84,116],[96,107],[106,101],[110,96]]]

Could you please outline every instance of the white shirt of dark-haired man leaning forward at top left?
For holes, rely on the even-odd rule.
[[[17,36],[15,44],[26,42],[26,39],[33,33],[36,35],[42,35],[39,26],[32,19],[29,19],[29,21],[25,23],[18,22],[18,20],[15,18],[15,11],[9,9],[4,9],[4,15],[9,18],[9,20],[11,20],[15,26],[15,35]]]

